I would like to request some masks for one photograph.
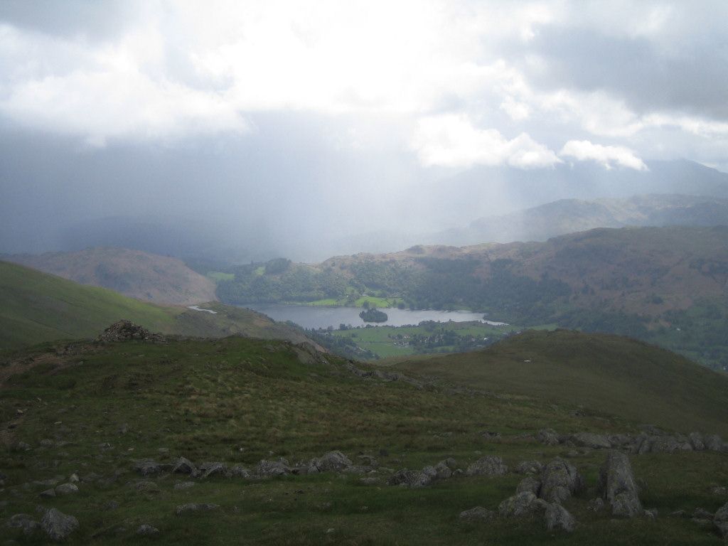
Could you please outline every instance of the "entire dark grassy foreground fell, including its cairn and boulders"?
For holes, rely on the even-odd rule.
[[[127,323],[36,348],[2,368],[1,529],[21,544],[723,543],[728,380],[681,363],[697,377],[687,405],[671,408],[666,389],[629,415],[595,407],[569,389],[606,400],[624,388],[633,342],[562,335],[548,345],[563,354],[612,346],[613,381],[606,368],[553,400],[513,392],[515,363],[513,377],[503,367],[473,386],[306,344],[167,339]],[[538,339],[507,343],[529,355],[529,375],[558,376]],[[674,372],[653,350],[630,379],[654,379],[665,358]],[[668,424],[647,421],[655,411]]]

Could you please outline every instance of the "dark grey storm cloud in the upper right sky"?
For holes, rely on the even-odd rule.
[[[640,114],[676,110],[728,119],[728,32],[691,38],[665,52],[644,37],[542,28],[529,51],[542,56],[547,69],[534,82],[605,90]]]

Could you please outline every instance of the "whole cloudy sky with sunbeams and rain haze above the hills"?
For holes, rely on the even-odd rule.
[[[136,218],[242,259],[507,212],[524,175],[728,171],[727,20],[725,1],[2,0],[0,252]],[[443,206],[469,172],[491,173],[482,206]]]

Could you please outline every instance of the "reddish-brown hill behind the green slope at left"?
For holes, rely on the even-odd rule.
[[[215,282],[183,261],[127,248],[87,248],[31,256],[7,256],[23,264],[83,285],[111,288],[157,304],[189,305],[215,300]]]

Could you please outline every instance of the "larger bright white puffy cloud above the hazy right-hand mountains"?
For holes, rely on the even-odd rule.
[[[495,129],[478,129],[464,116],[453,114],[421,119],[412,147],[427,167],[511,165],[535,169],[561,163],[553,151],[525,132],[508,140]]]

